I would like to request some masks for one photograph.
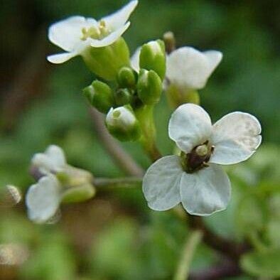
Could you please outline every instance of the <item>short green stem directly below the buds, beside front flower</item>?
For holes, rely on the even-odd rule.
[[[161,158],[161,153],[156,147],[156,127],[154,124],[154,105],[143,105],[135,111],[139,120],[143,136],[141,144],[152,161]]]

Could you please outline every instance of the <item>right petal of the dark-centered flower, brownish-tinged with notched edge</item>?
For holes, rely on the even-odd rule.
[[[210,162],[233,164],[245,161],[261,144],[259,121],[243,112],[225,115],[213,125],[211,143],[215,146]]]

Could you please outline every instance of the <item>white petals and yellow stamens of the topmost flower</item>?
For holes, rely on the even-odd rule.
[[[127,20],[137,4],[138,1],[131,1],[119,11],[99,21],[83,16],[71,16],[54,23],[49,28],[48,38],[66,53],[50,55],[48,61],[64,63],[81,55],[89,47],[101,48],[111,45],[129,28],[130,22]]]

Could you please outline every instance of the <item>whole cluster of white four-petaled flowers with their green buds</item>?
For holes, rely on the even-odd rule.
[[[83,93],[105,124],[120,141],[141,141],[156,160],[146,171],[143,191],[153,210],[168,210],[182,203],[192,215],[207,216],[224,210],[231,186],[221,165],[245,161],[261,144],[259,121],[251,114],[232,112],[212,124],[198,106],[198,90],[222,60],[217,50],[200,52],[184,46],[166,54],[163,41],[149,41],[130,58],[122,34],[138,1],[96,21],[72,16],[50,26],[48,38],[65,50],[48,56],[51,63],[64,63],[81,55],[97,76]],[[165,90],[173,112],[169,137],[180,155],[159,158],[155,149],[154,106]],[[158,159],[159,158],[159,159]],[[60,203],[77,202],[95,194],[92,175],[69,166],[63,150],[50,146],[32,159],[38,183],[26,195],[28,215],[45,222],[55,215]]]

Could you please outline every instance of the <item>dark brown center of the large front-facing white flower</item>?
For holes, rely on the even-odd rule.
[[[182,152],[182,164],[185,172],[193,173],[208,167],[208,161],[214,149],[215,147],[210,146],[209,141],[206,141],[201,145],[195,146],[188,154]]]

